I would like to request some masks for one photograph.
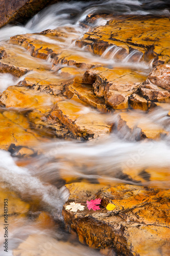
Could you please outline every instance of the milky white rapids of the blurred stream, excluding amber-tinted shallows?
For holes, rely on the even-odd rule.
[[[0,30],[0,41],[8,40],[11,36],[16,34],[41,32],[46,29],[56,29],[67,26],[75,29],[75,32],[69,32],[69,38],[62,38],[60,46],[65,49],[76,50],[80,56],[88,57],[92,61],[100,62],[106,66],[111,67],[135,67],[138,72],[144,70],[148,73],[152,67],[151,63],[143,63],[138,60],[134,63],[132,58],[138,55],[137,52],[131,52],[123,61],[117,62],[115,60],[116,54],[122,48],[111,46],[106,49],[102,57],[94,56],[87,53],[84,49],[75,47],[75,39],[81,36],[88,30],[80,26],[80,22],[85,21],[86,16],[91,13],[114,13],[114,14],[155,14],[155,15],[169,15],[169,11],[165,7],[154,8],[156,4],[162,1],[148,1],[147,9],[145,1],[132,0],[108,0],[99,2],[62,2],[46,8],[37,15],[35,15],[25,26],[6,26]],[[105,25],[107,20],[98,19],[95,24],[89,26]],[[52,44],[59,44],[58,40],[47,39],[43,35],[35,35],[35,38],[46,41]],[[110,55],[108,55],[110,53]],[[37,59],[38,61],[38,59]],[[19,80],[23,79],[21,77]],[[8,86],[19,82],[10,74],[0,74],[0,91],[3,92]],[[85,108],[85,113],[89,109]],[[154,123],[164,126],[166,131],[170,130],[169,118],[167,117],[168,110],[159,111],[148,114],[148,118]],[[117,115],[109,117],[110,120],[116,120]],[[144,118],[141,121],[144,121]],[[137,124],[136,124],[137,125]],[[30,159],[31,164],[25,168],[18,167],[15,160],[8,152],[0,151],[0,180],[4,182],[4,186],[9,190],[13,190],[18,194],[18,197],[28,202],[34,202],[34,198],[39,199],[40,207],[48,211],[55,220],[62,220],[61,210],[64,202],[68,198],[67,189],[61,187],[59,184],[61,178],[68,176],[77,177],[80,179],[87,179],[90,181],[102,180],[104,183],[134,183],[128,179],[124,174],[130,173],[131,169],[145,170],[148,167],[153,168],[152,176],[156,178],[157,174],[154,169],[167,168],[168,172],[164,179],[145,180],[144,185],[156,185],[160,188],[170,188],[169,181],[169,154],[170,138],[166,141],[161,138],[155,142],[134,141],[134,137],[138,130],[134,130],[129,134],[126,129],[120,133],[112,134],[105,140],[95,140],[90,142],[76,142],[76,141],[62,141],[53,140],[37,146],[35,150],[42,152],[38,157]],[[124,173],[125,171],[125,173]],[[136,182],[139,177],[136,177]],[[59,182],[58,182],[59,181]],[[30,212],[31,216],[38,215],[38,211]],[[35,225],[34,221],[29,218],[19,219],[16,216],[11,225],[10,230],[10,251],[9,255],[13,254],[13,249],[17,248],[19,244],[24,242],[29,236],[33,236],[32,240],[27,241],[27,246],[20,248],[15,255],[100,255],[92,249],[89,249],[77,242],[69,244],[64,243],[64,237],[67,236],[65,231],[58,231],[58,228],[43,229]],[[3,235],[0,236],[3,238]],[[35,241],[35,242],[34,242]],[[2,243],[0,240],[0,256],[4,256]],[[49,249],[50,248],[50,249]],[[25,253],[25,254],[22,254]]]

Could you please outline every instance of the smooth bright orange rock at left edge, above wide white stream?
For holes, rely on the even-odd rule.
[[[25,113],[1,110],[0,116],[1,149],[9,150],[13,156],[34,155],[33,145],[43,141],[43,138],[31,130]]]

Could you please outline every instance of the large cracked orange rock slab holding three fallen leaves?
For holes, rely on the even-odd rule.
[[[88,199],[102,199],[101,210],[70,212],[65,209],[75,201],[70,196],[63,217],[69,230],[90,247],[111,249],[118,256],[169,255],[169,196],[169,190],[134,185],[103,188]],[[103,208],[108,203],[114,210]]]

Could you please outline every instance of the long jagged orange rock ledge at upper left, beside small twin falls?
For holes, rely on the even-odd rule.
[[[46,34],[46,40],[51,39],[48,38],[48,34]],[[48,38],[48,39],[47,39]],[[60,44],[52,44],[50,42],[45,42],[45,39],[42,38],[42,35],[39,34],[26,34],[26,35],[16,35],[11,37],[10,42],[13,44],[19,44],[22,47],[25,47],[28,51],[31,52],[31,55],[41,59],[47,59],[50,57],[53,62],[52,70],[56,70],[56,65],[58,63],[68,66],[75,66],[81,69],[89,69],[94,67],[95,65],[100,65],[99,62],[94,61],[91,58],[82,56],[82,53],[79,54],[71,49],[63,50]],[[56,40],[56,37],[54,37]]]

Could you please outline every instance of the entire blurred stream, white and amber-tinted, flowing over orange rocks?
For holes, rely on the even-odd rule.
[[[131,68],[139,74],[147,76],[151,70],[152,63],[141,61],[141,53],[132,51],[128,56],[117,60],[116,54],[122,50],[121,47],[112,46],[106,49],[101,57],[94,56],[75,46],[75,40],[80,39],[85,32],[96,26],[105,25],[107,18],[99,18],[93,24],[86,22],[86,16],[91,13],[113,13],[113,14],[135,14],[135,15],[166,15],[168,16],[168,1],[145,1],[145,0],[105,0],[90,2],[61,2],[50,6],[36,14],[25,26],[6,26],[0,30],[0,46],[6,45],[17,56],[24,56],[27,61],[32,61],[32,56],[25,49],[14,46],[8,41],[11,36],[25,33],[36,33],[46,29],[62,28],[68,33],[68,37],[50,39],[43,35],[33,35],[35,39],[54,44],[61,49],[66,49],[72,54],[86,57],[91,62],[102,63],[106,67]],[[88,26],[81,26],[84,23]],[[66,29],[71,27],[71,32]],[[48,60],[36,59],[37,65],[52,67],[51,58]],[[53,76],[59,77],[58,65],[54,69]],[[11,74],[0,74],[0,91],[5,91],[9,86],[17,84],[25,76],[16,78]],[[45,102],[45,104],[47,104]],[[50,103],[49,103],[50,104]],[[39,105],[40,107],[40,105]],[[29,105],[28,105],[29,108]],[[27,108],[27,110],[28,110]],[[31,108],[31,106],[30,106]],[[3,109],[4,111],[4,109]],[[19,109],[7,109],[10,115],[18,115],[15,125],[25,129],[25,124],[19,122],[22,111]],[[86,113],[90,112],[87,106]],[[95,112],[95,110],[93,110]],[[169,106],[165,104],[164,109],[156,109],[149,114],[142,111],[132,111],[133,117],[140,116],[140,122],[152,120],[154,124],[162,125],[166,132],[170,130],[170,122],[167,117]],[[7,129],[7,137],[10,140],[10,130],[3,127],[4,116],[1,120],[1,129]],[[109,122],[116,122],[116,114],[108,114]],[[87,182],[100,181],[104,185],[121,183],[134,184],[134,181],[123,175],[120,169],[130,173],[132,169],[152,170],[152,179],[144,180],[142,184],[153,185],[160,188],[170,188],[169,154],[170,137],[161,137],[159,140],[138,141],[138,129],[129,133],[126,127],[121,131],[114,132],[105,139],[83,142],[80,140],[51,139],[46,136],[44,140],[30,142],[29,138],[25,146],[32,143],[33,156],[28,159],[19,159],[17,151],[0,151],[0,178],[3,195],[8,195],[11,200],[11,222],[9,229],[10,244],[8,255],[101,255],[99,251],[81,245],[74,235],[64,230],[62,222],[62,207],[69,193],[63,186],[68,177],[76,181]],[[15,131],[15,126],[14,126]],[[38,133],[36,131],[36,133]],[[22,136],[20,130],[17,136]],[[41,135],[40,135],[41,136]],[[4,148],[4,147],[3,147]],[[6,148],[4,148],[6,149]],[[121,173],[121,174],[120,174]],[[164,174],[159,179],[159,174]],[[76,177],[76,178],[75,178]],[[140,184],[141,180],[136,179]],[[135,184],[136,184],[135,183]],[[18,201],[17,201],[18,200]],[[21,200],[21,201],[20,201]],[[12,207],[16,204],[21,207],[19,214]],[[23,204],[23,205],[22,205]],[[13,206],[12,206],[13,205]],[[31,207],[28,209],[28,205]],[[1,207],[2,208],[2,207]],[[3,216],[3,214],[2,214]],[[3,220],[3,217],[1,217]],[[0,236],[0,255],[4,256],[3,229]],[[7,253],[5,254],[7,255]]]

